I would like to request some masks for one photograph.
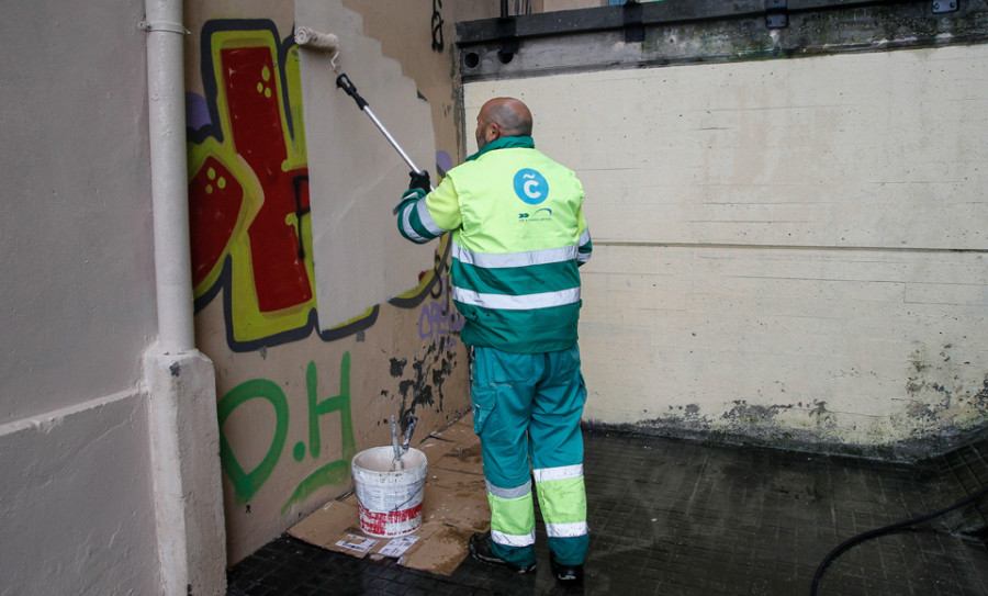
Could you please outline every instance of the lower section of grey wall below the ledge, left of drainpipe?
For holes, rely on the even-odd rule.
[[[0,594],[155,594],[147,396],[0,428]]]

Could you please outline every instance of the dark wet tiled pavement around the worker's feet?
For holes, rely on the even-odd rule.
[[[988,486],[988,442],[902,465],[586,430],[586,595],[809,595],[843,541],[943,509]],[[988,497],[854,546],[823,595],[988,595]],[[281,537],[229,571],[231,596],[568,594],[538,572],[467,559],[449,577]]]

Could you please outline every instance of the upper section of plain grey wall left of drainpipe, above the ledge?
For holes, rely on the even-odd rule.
[[[16,58],[0,87],[0,421],[141,376],[155,328],[143,13],[120,0],[4,7]]]

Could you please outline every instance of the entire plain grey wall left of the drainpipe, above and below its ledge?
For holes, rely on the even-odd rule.
[[[139,1],[3,7],[0,594],[157,591]]]

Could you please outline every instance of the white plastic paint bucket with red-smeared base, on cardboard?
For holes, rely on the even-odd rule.
[[[357,453],[351,470],[357,483],[360,529],[379,538],[393,538],[422,527],[422,497],[428,460],[417,449],[402,454],[394,470],[394,448],[372,447]]]

